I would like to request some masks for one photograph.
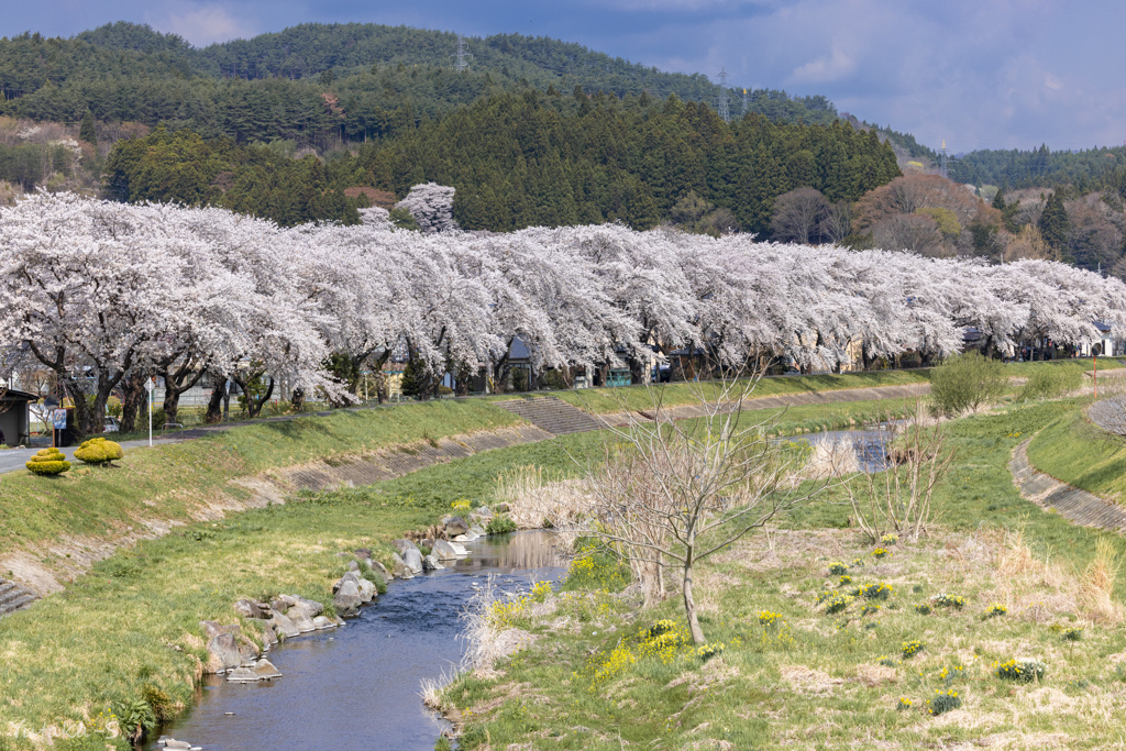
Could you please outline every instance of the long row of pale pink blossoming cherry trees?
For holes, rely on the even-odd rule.
[[[251,411],[352,399],[363,369],[404,351],[428,374],[507,377],[519,337],[543,372],[701,349],[741,365],[834,367],[986,346],[1094,340],[1126,325],[1126,286],[1049,261],[988,266],[905,252],[757,243],[619,225],[479,236],[270,222],[217,208],[34,195],[0,209],[0,351],[27,343],[75,400],[84,432],[125,394],[125,421],[162,376],[164,409],[205,374],[249,388]],[[1116,330],[1121,330],[1116,328]],[[761,360],[760,360],[761,361]],[[249,365],[249,367],[248,367]],[[221,391],[208,408],[218,415]]]

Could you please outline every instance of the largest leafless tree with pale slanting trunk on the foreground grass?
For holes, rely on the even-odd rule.
[[[606,461],[587,473],[587,533],[629,562],[646,599],[663,594],[667,566],[679,570],[696,644],[706,642],[692,592],[696,564],[810,502],[829,484],[801,482],[806,452],[770,438],[777,417],[744,412],[757,384],[758,375],[698,384],[699,417],[688,420],[674,420],[662,390],[651,388],[649,419],[623,409],[627,423],[611,428],[616,440]]]

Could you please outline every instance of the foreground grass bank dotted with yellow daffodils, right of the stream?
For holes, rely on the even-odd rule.
[[[817,503],[700,566],[705,634],[723,645],[708,660],[683,642],[676,596],[642,611],[614,593],[613,564],[574,567],[563,592],[497,613],[502,627],[529,632],[534,647],[445,692],[463,748],[1120,741],[1126,582],[1110,572],[1126,544],[1024,500],[1007,466],[1018,442],[1076,408],[1038,402],[950,423],[957,459],[935,497],[939,525],[922,544],[876,560],[848,528],[848,507]],[[852,582],[830,575],[838,560],[860,561]],[[826,611],[824,591],[881,583],[892,588],[887,600],[860,596]],[[994,604],[1004,613],[986,617]],[[662,619],[671,626],[659,634]],[[904,645],[915,641],[922,649],[909,656]],[[994,663],[1021,658],[1047,672],[1031,682],[997,674]],[[960,706],[930,714],[928,699],[954,704],[936,691],[956,692]]]

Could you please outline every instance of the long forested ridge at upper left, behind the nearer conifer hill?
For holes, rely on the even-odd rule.
[[[118,21],[70,39],[0,39],[0,115],[190,127],[236,143],[294,140],[325,147],[399,128],[503,91],[588,92],[715,107],[722,91],[703,74],[665,73],[578,44],[498,35],[465,42],[468,70],[453,70],[457,36],[374,24],[306,24],[196,48],[178,36]],[[743,114],[742,91],[729,89]],[[780,123],[828,124],[824,97],[748,93],[748,109]]]

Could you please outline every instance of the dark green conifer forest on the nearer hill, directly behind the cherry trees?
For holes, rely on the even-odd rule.
[[[493,231],[611,221],[647,229],[695,193],[730,209],[742,230],[768,235],[775,198],[793,188],[855,202],[900,175],[875,133],[841,122],[783,125],[749,115],[727,124],[674,96],[618,99],[581,87],[566,95],[500,93],[323,166],[313,158],[288,162],[285,152],[280,142],[242,146],[159,129],[115,147],[106,190],[125,200],[213,203],[293,224],[350,221],[354,208],[342,196],[349,187],[402,197],[434,181],[457,189],[455,217],[464,229]]]

